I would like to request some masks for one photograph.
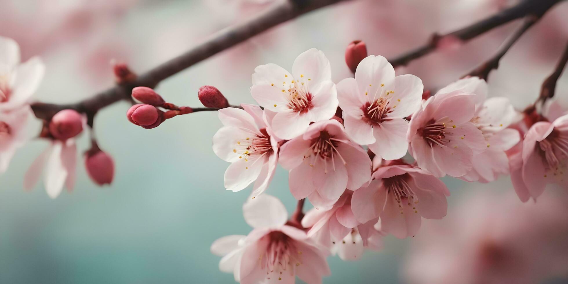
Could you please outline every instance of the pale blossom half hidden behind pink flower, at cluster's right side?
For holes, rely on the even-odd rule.
[[[487,99],[487,83],[478,77],[458,80],[440,90],[442,93],[462,91],[475,94],[475,114],[471,123],[483,132],[487,149],[471,159],[471,170],[461,179],[465,181],[494,181],[499,174],[509,174],[509,160],[505,151],[519,143],[519,131],[508,128],[519,113],[508,98]]]

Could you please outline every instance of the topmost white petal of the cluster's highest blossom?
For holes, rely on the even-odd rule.
[[[331,66],[323,51],[311,48],[296,57],[292,74],[298,81],[307,81],[310,85],[318,84],[331,81]]]

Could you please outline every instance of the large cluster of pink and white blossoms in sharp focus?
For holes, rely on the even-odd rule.
[[[513,172],[523,201],[546,183],[567,187],[568,115],[527,124],[521,141],[522,116],[507,98],[487,98],[485,80],[466,77],[424,96],[420,78],[396,76],[385,57],[366,56],[361,44],[349,45],[345,56],[354,78],[333,83],[328,59],[312,48],[291,72],[275,64],[254,70],[250,93],[260,106],[219,110],[223,127],[213,149],[232,163],[225,187],[240,191],[254,182],[244,208],[254,231],[211,248],[236,281],[293,283],[298,275],[319,283],[328,272],[325,254],[356,260],[365,248],[380,249],[387,234],[416,235],[422,218],[446,215],[450,193],[439,179],[446,175],[491,182]],[[262,194],[278,163],[289,171],[290,193],[314,205],[304,218],[286,223],[280,203]],[[278,222],[249,221],[262,215],[278,215]],[[230,250],[221,248],[229,243]],[[300,250],[310,250],[308,266],[318,272],[310,278]]]

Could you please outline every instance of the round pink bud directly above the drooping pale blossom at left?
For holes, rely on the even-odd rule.
[[[77,136],[83,131],[83,118],[74,110],[62,110],[57,112],[49,122],[49,132],[60,140],[66,140]]]

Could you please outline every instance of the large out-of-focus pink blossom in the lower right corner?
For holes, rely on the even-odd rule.
[[[413,239],[401,270],[406,283],[529,284],[568,275],[565,195],[520,203],[511,193],[475,192]]]

